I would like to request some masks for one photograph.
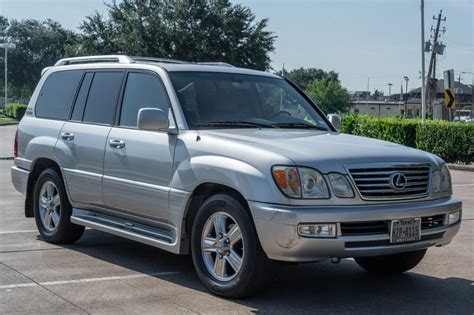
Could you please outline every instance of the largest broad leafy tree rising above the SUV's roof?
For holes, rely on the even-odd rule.
[[[84,53],[223,61],[266,70],[275,36],[268,20],[229,0],[113,1],[81,25]]]

